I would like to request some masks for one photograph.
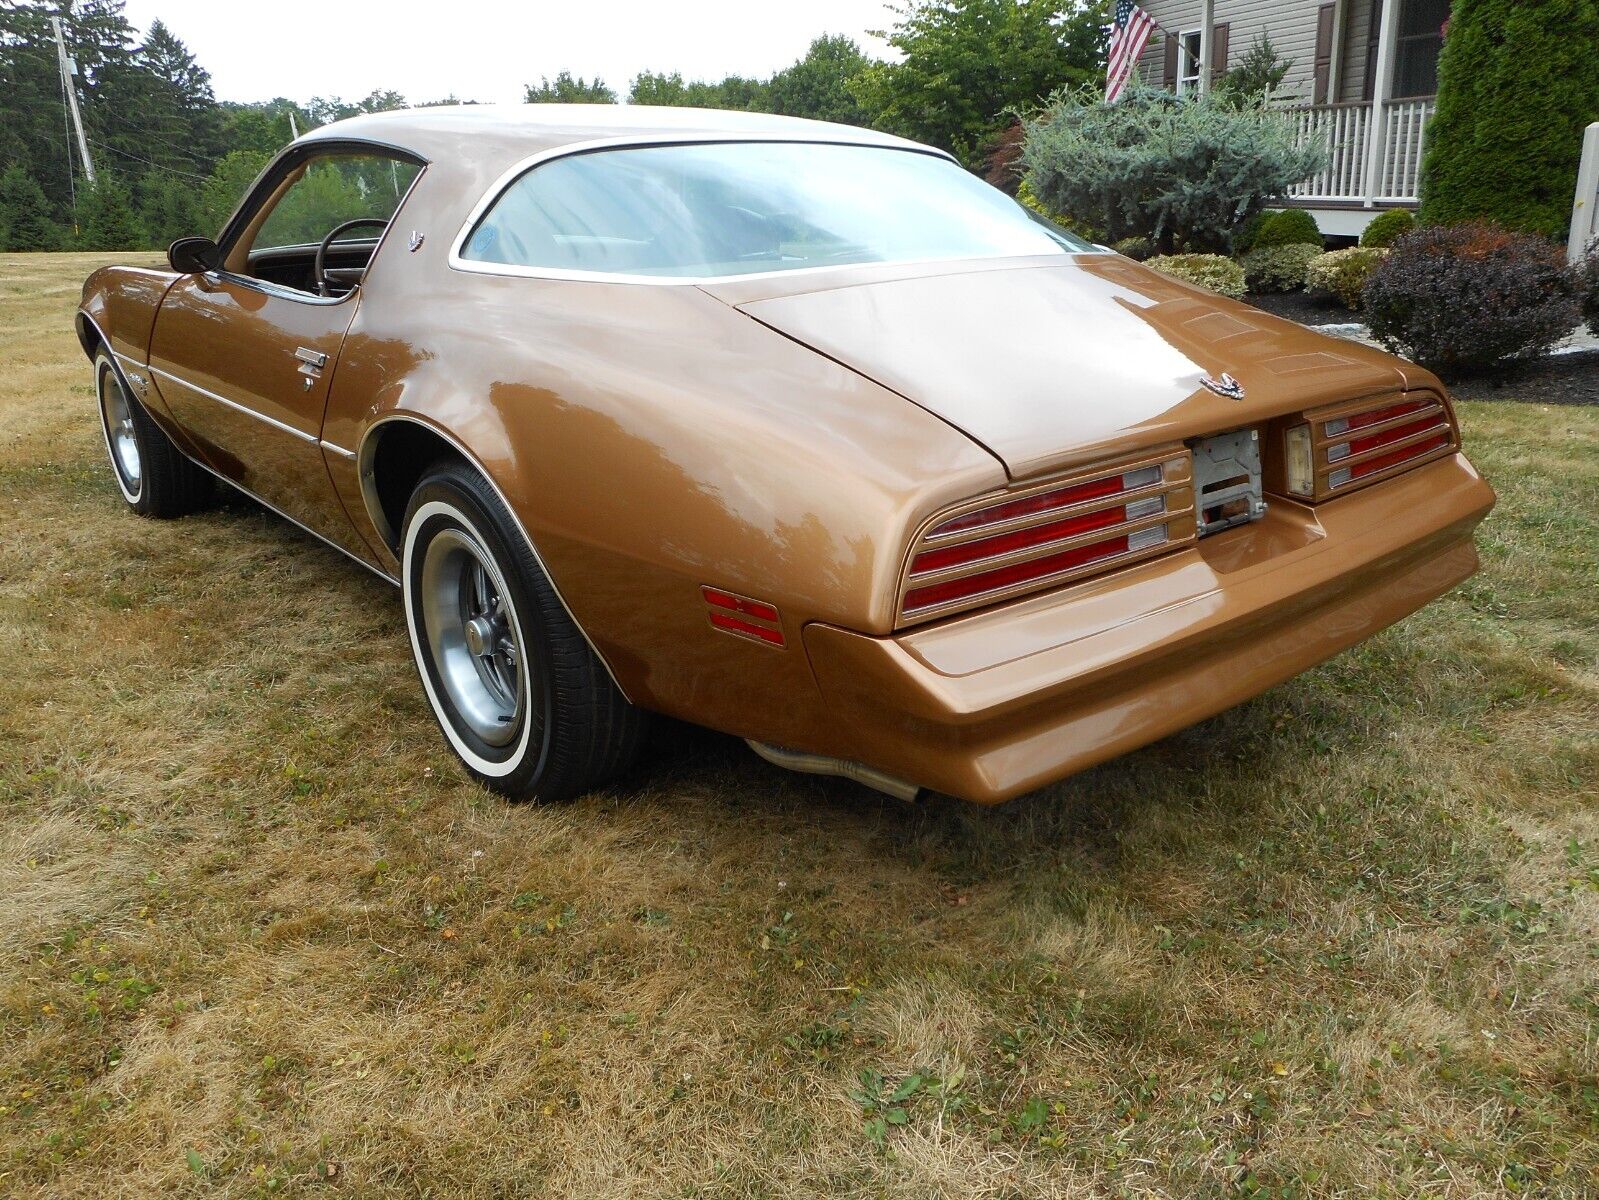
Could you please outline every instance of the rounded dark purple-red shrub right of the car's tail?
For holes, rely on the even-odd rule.
[[[1581,318],[1561,248],[1489,224],[1406,234],[1361,302],[1378,341],[1444,374],[1546,354]]]

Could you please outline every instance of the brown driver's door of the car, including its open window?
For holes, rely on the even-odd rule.
[[[222,267],[184,275],[157,312],[150,371],[206,464],[281,515],[371,562],[321,443],[328,387],[360,304],[360,275],[417,165],[341,144],[278,160],[219,240]],[[347,221],[320,294],[317,243]]]

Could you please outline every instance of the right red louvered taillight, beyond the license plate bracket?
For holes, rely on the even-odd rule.
[[[1457,446],[1444,402],[1431,394],[1306,416],[1286,430],[1284,454],[1289,491],[1308,499],[1398,475]]]

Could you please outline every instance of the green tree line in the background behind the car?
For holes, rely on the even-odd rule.
[[[66,120],[51,16],[61,16],[96,182],[83,178]],[[684,80],[640,72],[628,104],[774,112],[862,125],[940,146],[974,170],[1011,114],[1103,70],[1105,0],[908,0],[875,30],[900,59],[878,61],[825,35],[768,78]],[[600,78],[561,70],[524,88],[537,102],[612,104]],[[0,250],[160,248],[216,232],[245,187],[297,130],[413,104],[379,90],[360,101],[315,96],[217,101],[211,75],[161,21],[144,37],[123,0],[0,0]]]

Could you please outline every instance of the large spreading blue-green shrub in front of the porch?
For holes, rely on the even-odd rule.
[[[1142,86],[1116,104],[1099,85],[1057,93],[1027,120],[1022,146],[1046,206],[1108,242],[1148,237],[1164,251],[1226,250],[1239,221],[1326,160],[1326,147],[1300,144],[1274,109]]]

